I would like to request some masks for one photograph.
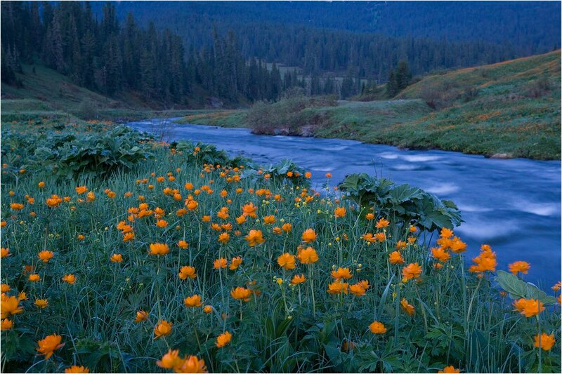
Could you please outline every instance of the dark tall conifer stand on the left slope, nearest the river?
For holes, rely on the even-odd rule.
[[[89,2],[3,1],[2,81],[19,84],[21,64],[39,61],[76,84],[105,95],[141,93],[147,101],[188,105],[197,92],[226,102],[276,100],[291,86],[305,86],[296,72],[281,76],[275,64],[247,59],[233,32],[185,51],[183,40],[154,23],[140,27],[129,13],[119,22],[106,3],[98,21]]]

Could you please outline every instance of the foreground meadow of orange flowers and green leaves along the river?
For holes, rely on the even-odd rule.
[[[558,282],[368,175],[109,122],[3,123],[3,372],[561,371]]]

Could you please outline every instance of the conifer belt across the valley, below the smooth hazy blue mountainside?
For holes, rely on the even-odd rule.
[[[382,82],[393,97],[412,74],[516,55],[509,46],[481,41],[450,43],[271,22],[237,25],[235,34],[224,25],[189,18],[176,34],[154,22],[143,27],[131,13],[119,21],[114,3],[93,6],[100,4],[2,1],[2,81],[19,84],[15,73],[22,73],[21,64],[42,61],[80,86],[109,96],[132,91],[146,102],[192,105],[210,96],[234,105],[277,100],[292,87],[308,95],[349,98]],[[268,66],[266,61],[294,68],[282,74],[275,62]]]

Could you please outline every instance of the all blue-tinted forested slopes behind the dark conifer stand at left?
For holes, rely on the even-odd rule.
[[[560,46],[554,2],[121,1],[117,14],[170,27],[186,44],[208,45],[207,30],[233,29],[246,57],[385,81],[399,60],[413,74],[484,65]]]

